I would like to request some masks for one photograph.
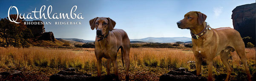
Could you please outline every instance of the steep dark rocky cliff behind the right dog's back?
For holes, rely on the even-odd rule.
[[[256,28],[256,3],[237,6],[232,11],[233,27],[241,37],[252,37],[252,43],[255,45]]]

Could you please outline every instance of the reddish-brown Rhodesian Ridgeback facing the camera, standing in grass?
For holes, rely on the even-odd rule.
[[[126,64],[126,80],[129,81],[129,51],[130,40],[127,33],[121,29],[114,29],[115,21],[106,17],[96,17],[89,21],[91,29],[96,28],[95,56],[97,58],[98,77],[101,77],[101,59],[107,59],[107,75],[110,73],[111,62],[114,65],[116,80],[118,80],[117,52],[121,49],[121,58]]]

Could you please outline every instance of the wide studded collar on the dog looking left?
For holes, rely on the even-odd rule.
[[[207,30],[209,29],[209,30],[211,30],[211,28],[210,28],[210,26],[209,26],[209,24],[207,25],[208,23],[207,22],[205,22],[205,27],[204,27],[204,30],[202,30],[201,32],[199,32],[198,34],[194,34],[193,32],[191,32],[191,30],[190,30],[190,34],[191,34],[191,36],[192,36],[192,38],[194,38],[194,39],[198,39],[198,38],[200,38],[201,36],[203,36],[206,32],[207,32]]]

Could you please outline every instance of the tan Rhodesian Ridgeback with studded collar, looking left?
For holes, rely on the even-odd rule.
[[[251,81],[250,71],[247,66],[244,42],[238,31],[230,27],[211,28],[205,21],[206,15],[198,11],[190,11],[184,15],[184,19],[177,22],[178,28],[189,29],[192,36],[193,53],[196,58],[196,75],[201,73],[202,58],[206,59],[208,68],[208,81],[213,80],[213,58],[220,54],[221,61],[227,67],[228,81],[232,67],[228,62],[230,51],[236,51],[239,55]]]

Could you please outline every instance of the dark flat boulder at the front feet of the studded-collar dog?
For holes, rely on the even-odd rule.
[[[195,72],[190,72],[186,68],[178,68],[160,76],[159,81],[207,81],[207,78],[193,73]]]

